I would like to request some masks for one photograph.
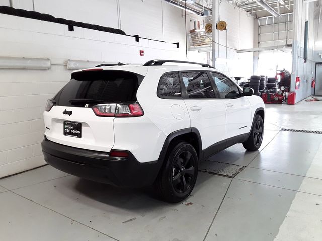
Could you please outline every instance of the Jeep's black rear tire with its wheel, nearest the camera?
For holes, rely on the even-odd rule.
[[[189,170],[189,173],[187,170]],[[182,173],[184,174],[182,175]],[[198,156],[194,147],[187,142],[179,142],[168,150],[163,168],[160,170],[154,185],[162,200],[181,202],[193,190],[197,175]]]

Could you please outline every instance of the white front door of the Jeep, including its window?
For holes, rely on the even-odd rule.
[[[251,105],[240,88],[227,76],[210,72],[226,112],[226,138],[249,133],[252,125]]]

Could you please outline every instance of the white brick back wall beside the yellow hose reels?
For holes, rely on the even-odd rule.
[[[255,19],[244,11],[232,6],[227,1],[220,3],[217,8],[220,19],[227,23],[227,31],[215,31],[216,48],[216,69],[226,73],[229,76],[250,77],[253,74],[253,52],[237,53],[234,49],[249,49],[254,47],[254,26],[257,26]],[[218,17],[217,13],[217,17]],[[189,15],[187,18],[187,31],[192,29],[190,18],[196,18]],[[202,18],[197,18],[202,24]],[[209,22],[205,19],[205,22]],[[210,21],[212,23],[212,21]],[[222,46],[223,45],[223,46]],[[233,49],[226,49],[225,46]],[[209,47],[205,47],[209,48]],[[199,60],[207,63],[207,53],[191,51],[188,59],[199,57]],[[211,55],[209,55],[211,58]]]

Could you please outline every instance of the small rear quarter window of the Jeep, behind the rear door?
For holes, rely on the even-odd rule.
[[[178,72],[164,74],[159,82],[159,97],[181,97]]]

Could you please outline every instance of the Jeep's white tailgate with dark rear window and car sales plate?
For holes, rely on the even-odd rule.
[[[114,116],[98,116],[102,103],[136,101],[139,76],[133,72],[96,70],[74,72],[44,112],[48,140],[76,148],[109,152],[114,145]]]

